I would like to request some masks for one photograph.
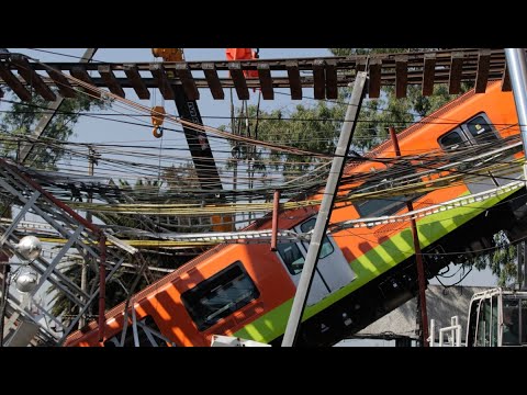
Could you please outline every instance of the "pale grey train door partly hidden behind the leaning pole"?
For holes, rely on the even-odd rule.
[[[296,233],[307,233],[313,229],[316,217],[311,217],[304,223],[295,226]],[[278,245],[278,256],[285,266],[291,280],[299,284],[300,275],[307,256],[309,242],[283,242]],[[349,284],[356,278],[344,257],[343,251],[329,235],[324,236],[321,246],[321,253],[316,264],[315,274],[307,295],[307,305],[313,305],[328,294]]]

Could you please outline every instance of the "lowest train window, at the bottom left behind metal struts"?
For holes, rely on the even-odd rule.
[[[122,331],[104,341],[104,347],[120,347]],[[123,347],[167,347],[176,346],[161,335],[159,327],[152,316],[146,316],[137,321],[136,330],[128,326]]]

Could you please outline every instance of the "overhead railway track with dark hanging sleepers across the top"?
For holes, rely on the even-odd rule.
[[[258,78],[246,78],[243,71],[248,70],[257,70]],[[78,86],[65,78],[65,72],[122,98],[126,89],[133,89],[143,100],[150,98],[149,88],[158,89],[166,100],[172,100],[175,87],[182,87],[191,101],[200,99],[200,89],[208,89],[214,99],[223,100],[224,89],[229,88],[235,88],[239,100],[247,100],[250,89],[261,89],[264,100],[272,100],[278,88],[289,88],[293,100],[302,99],[302,88],[313,88],[315,99],[337,99],[337,88],[348,86],[362,70],[369,75],[369,98],[379,98],[381,88],[386,86],[395,87],[397,98],[406,97],[408,86],[421,86],[423,94],[430,95],[437,83],[447,83],[452,94],[460,92],[461,82],[472,82],[476,92],[484,92],[489,81],[502,80],[502,89],[511,90],[503,48],[244,61],[45,65],[24,55],[2,53],[0,97],[1,87],[9,86],[25,101],[31,99],[31,90],[45,99],[51,98],[51,87],[65,98],[75,98]]]

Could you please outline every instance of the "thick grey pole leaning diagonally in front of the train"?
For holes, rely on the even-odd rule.
[[[333,211],[333,203],[335,202],[338,183],[343,176],[344,166],[348,155],[351,138],[354,137],[355,126],[357,125],[357,117],[359,115],[360,105],[366,86],[366,71],[358,71],[355,78],[354,90],[349,99],[348,109],[344,120],[340,137],[338,138],[337,149],[333,159],[332,169],[326,182],[324,198],[321,203],[318,216],[316,217],[315,227],[311,237],[307,256],[305,257],[302,274],[300,275],[296,293],[294,294],[293,306],[289,315],[288,325],[283,335],[282,347],[293,347],[299,332],[299,326],[304,314],[305,303],[313,282],[316,263],[321,253],[321,242],[326,234],[327,224]]]

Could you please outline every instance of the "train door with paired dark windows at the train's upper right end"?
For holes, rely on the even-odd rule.
[[[489,144],[498,139],[500,136],[486,114],[480,113],[468,122],[459,125],[455,129],[441,136],[439,138],[439,145],[447,150],[451,150],[462,147]],[[492,148],[489,149],[492,150]],[[498,162],[506,161],[508,159],[512,159],[511,154],[496,153],[496,155],[490,156],[473,166],[460,165],[457,167],[457,170],[475,172],[478,171],[479,167],[484,166],[487,161]],[[513,173],[511,173],[509,169],[506,169],[506,174],[504,174],[504,177],[500,177],[501,172],[504,172],[504,170],[501,170],[498,172],[489,171],[486,172],[487,176],[483,174],[482,177],[479,177],[478,179],[468,182],[467,187],[471,193],[483,192],[490,189],[494,189],[498,185],[509,183],[512,182],[512,179],[518,178],[523,174],[522,169],[519,168],[518,171],[515,171]]]

